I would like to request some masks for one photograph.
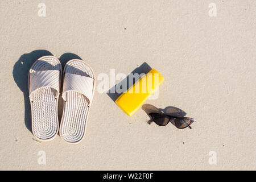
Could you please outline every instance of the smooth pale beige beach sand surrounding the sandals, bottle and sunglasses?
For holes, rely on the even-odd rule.
[[[1,170],[256,169],[256,1],[2,0],[0,9]],[[77,145],[59,135],[39,143],[31,133],[27,73],[45,55],[63,67],[80,58],[96,75]],[[141,108],[128,117],[115,96],[99,92],[102,73],[110,82],[110,72],[149,67],[165,81],[145,104],[187,113],[192,130],[148,125]],[[46,164],[38,163],[42,151]]]

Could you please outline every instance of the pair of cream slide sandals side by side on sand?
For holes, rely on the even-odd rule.
[[[63,82],[63,115],[57,115],[60,88]],[[73,59],[65,65],[63,74],[59,59],[40,57],[28,73],[28,90],[32,115],[32,133],[39,141],[60,137],[68,143],[84,138],[86,121],[92,104],[95,76],[82,60]]]

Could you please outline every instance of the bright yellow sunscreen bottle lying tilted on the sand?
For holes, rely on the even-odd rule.
[[[117,98],[115,103],[129,116],[135,111],[159,88],[159,85],[164,81],[164,77],[151,69],[146,75],[143,75],[133,86],[125,93]]]

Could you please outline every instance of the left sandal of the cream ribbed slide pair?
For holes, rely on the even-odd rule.
[[[61,72],[59,59],[43,56],[35,61],[28,73],[32,133],[39,141],[52,140],[59,130],[57,105]]]

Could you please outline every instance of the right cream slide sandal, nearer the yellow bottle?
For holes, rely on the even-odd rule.
[[[94,90],[92,68],[82,60],[68,61],[63,71],[64,108],[60,123],[60,137],[66,142],[78,143],[84,138]]]

